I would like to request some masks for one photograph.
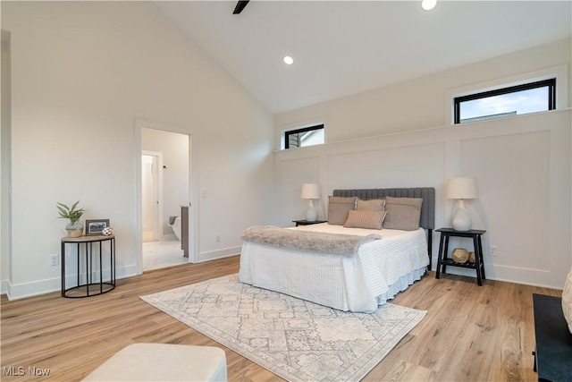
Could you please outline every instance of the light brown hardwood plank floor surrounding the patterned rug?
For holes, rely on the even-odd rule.
[[[139,299],[239,270],[238,256],[157,269],[118,280],[111,293],[64,299],[49,293],[8,301],[2,296],[3,381],[77,381],[124,346],[168,343],[220,346],[230,381],[281,380]],[[533,381],[532,294],[561,292],[521,284],[442,276],[434,272],[392,302],[427,316],[367,376],[366,381]],[[7,376],[23,368],[24,376]],[[47,377],[29,368],[49,369]]]

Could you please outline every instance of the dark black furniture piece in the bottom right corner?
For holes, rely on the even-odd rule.
[[[562,312],[562,299],[533,293],[533,306],[538,380],[572,380],[572,334]]]

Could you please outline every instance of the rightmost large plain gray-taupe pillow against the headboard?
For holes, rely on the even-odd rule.
[[[385,197],[387,216],[383,228],[415,231],[419,228],[422,198],[392,198]]]

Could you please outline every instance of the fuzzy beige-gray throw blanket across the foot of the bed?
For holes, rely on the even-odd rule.
[[[296,231],[274,225],[253,225],[240,236],[240,239],[245,242],[257,242],[287,250],[306,250],[344,256],[354,256],[361,244],[381,238],[382,236],[378,234],[358,236]]]

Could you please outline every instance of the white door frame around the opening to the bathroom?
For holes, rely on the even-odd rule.
[[[197,135],[189,128],[171,123],[162,123],[146,118],[135,118],[135,253],[137,275],[143,273],[143,228],[141,216],[141,132],[142,129],[155,129],[164,132],[177,132],[189,136],[189,262],[198,262],[198,147]]]

